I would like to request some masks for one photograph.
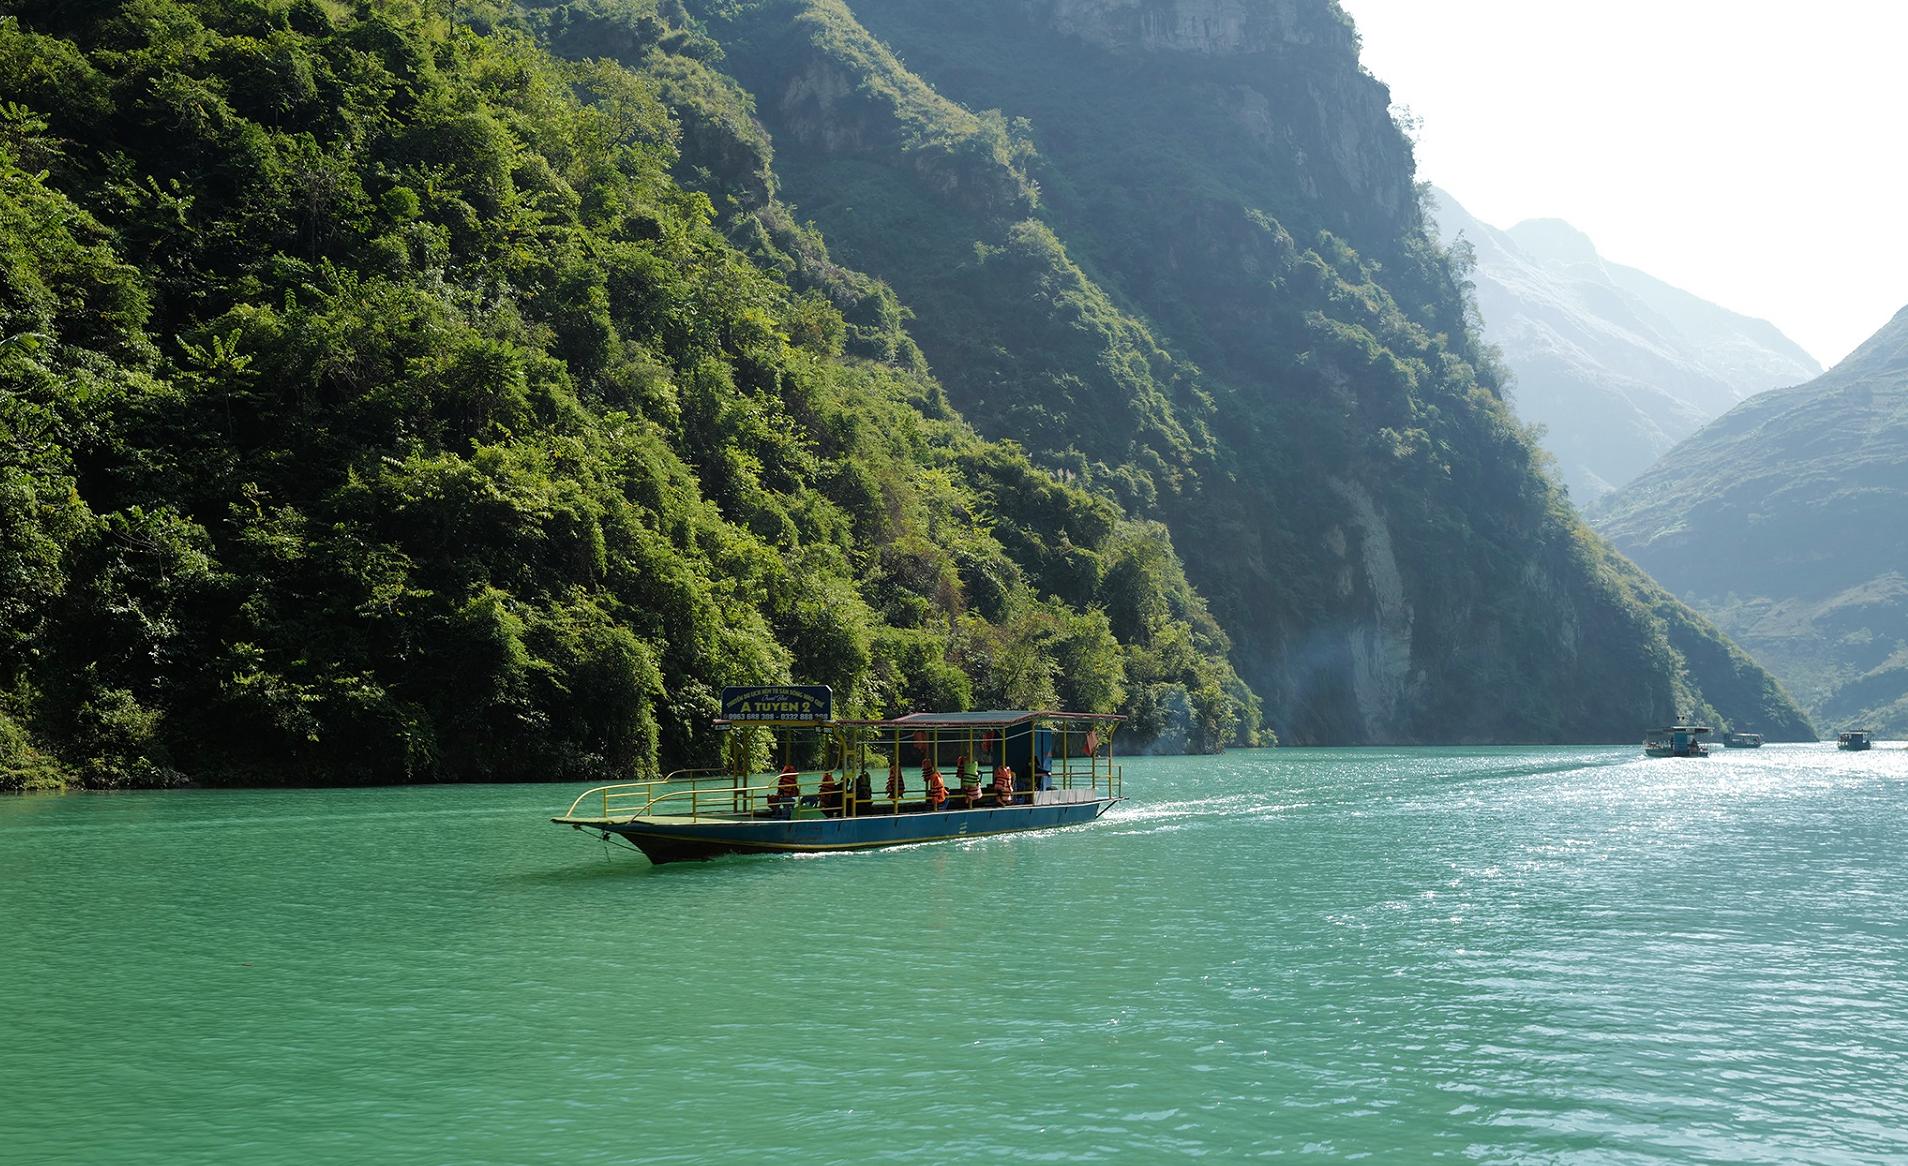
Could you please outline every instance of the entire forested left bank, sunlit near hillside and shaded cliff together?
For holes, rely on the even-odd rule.
[[[4,781],[649,773],[782,677],[1801,731],[1542,475],[1339,13],[1225,8],[878,6],[943,92],[832,0],[10,4]]]

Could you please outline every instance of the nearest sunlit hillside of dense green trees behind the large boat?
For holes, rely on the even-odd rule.
[[[403,2],[11,6],[6,782],[609,779],[788,677],[1255,740],[1164,529],[725,240],[666,80]]]

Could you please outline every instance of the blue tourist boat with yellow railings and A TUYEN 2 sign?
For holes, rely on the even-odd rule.
[[[826,853],[1078,826],[1120,800],[1112,733],[1076,712],[834,719],[822,685],[723,689],[725,765],[586,790],[551,819],[651,863]],[[946,790],[929,805],[927,775]]]

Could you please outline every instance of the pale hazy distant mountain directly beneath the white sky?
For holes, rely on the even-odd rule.
[[[1517,378],[1517,412],[1545,426],[1578,502],[1624,485],[1744,397],[1820,374],[1767,321],[1608,263],[1565,221],[1500,231],[1450,195],[1435,198],[1439,233],[1477,258],[1484,338]]]

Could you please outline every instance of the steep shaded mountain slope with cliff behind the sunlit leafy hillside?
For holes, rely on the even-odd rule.
[[[1282,737],[1809,733],[1545,477],[1336,6],[687,8],[777,195],[985,433],[1172,527]]]

